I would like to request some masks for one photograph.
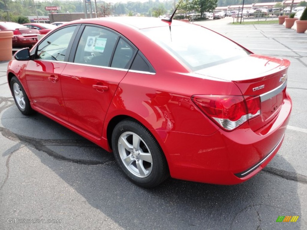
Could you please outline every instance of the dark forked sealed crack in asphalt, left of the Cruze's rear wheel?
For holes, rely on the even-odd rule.
[[[60,155],[57,152],[45,146],[45,144],[50,144],[50,145],[60,145],[60,146],[82,146],[82,147],[100,148],[99,146],[96,146],[95,144],[92,144],[92,145],[88,144],[86,140],[41,140],[41,139],[30,138],[27,136],[22,136],[22,135],[13,133],[10,130],[3,128],[3,127],[0,127],[0,132],[7,139],[13,140],[13,141],[21,141],[21,143],[32,146],[38,151],[45,152],[47,155],[53,157],[54,159],[64,160],[64,161],[69,161],[69,162],[73,162],[77,164],[84,164],[84,165],[99,165],[99,164],[113,162],[113,160],[109,160],[109,159],[104,159],[104,160],[72,159],[72,158],[68,158],[63,155]]]

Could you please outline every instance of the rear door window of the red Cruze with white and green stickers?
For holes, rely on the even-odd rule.
[[[74,63],[108,67],[118,37],[109,30],[86,26],[80,37]]]

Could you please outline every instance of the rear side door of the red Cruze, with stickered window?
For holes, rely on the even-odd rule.
[[[135,49],[114,31],[93,25],[84,26],[72,47],[76,52],[61,73],[69,123],[101,138],[107,109]]]

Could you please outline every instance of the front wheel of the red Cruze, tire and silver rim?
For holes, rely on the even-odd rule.
[[[24,115],[30,115],[33,113],[33,109],[31,108],[29,98],[25,93],[21,83],[18,79],[14,76],[10,82],[11,92],[14,98],[14,101],[17,105],[17,108],[20,112]]]

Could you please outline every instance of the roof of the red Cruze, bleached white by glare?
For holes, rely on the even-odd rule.
[[[161,18],[153,18],[153,17],[101,17],[101,18],[91,18],[91,19],[81,19],[69,22],[67,24],[72,23],[93,23],[104,25],[104,23],[118,23],[121,25],[127,25],[130,27],[134,27],[135,29],[146,29],[152,27],[161,27],[161,26],[169,26],[169,23],[166,21],[162,21]],[[67,25],[66,24],[66,25]],[[186,22],[181,22],[178,20],[173,20],[172,25],[186,25]]]

